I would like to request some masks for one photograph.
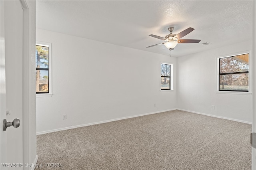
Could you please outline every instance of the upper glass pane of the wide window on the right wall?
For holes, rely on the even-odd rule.
[[[248,71],[249,54],[220,58],[220,73]]]

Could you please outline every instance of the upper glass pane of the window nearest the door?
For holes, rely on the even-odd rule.
[[[36,67],[49,68],[48,47],[36,45]]]

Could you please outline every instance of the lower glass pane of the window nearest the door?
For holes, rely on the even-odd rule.
[[[36,70],[36,92],[48,93],[48,70]]]

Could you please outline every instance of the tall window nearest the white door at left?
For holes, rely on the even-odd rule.
[[[36,43],[36,93],[52,95],[51,43]]]

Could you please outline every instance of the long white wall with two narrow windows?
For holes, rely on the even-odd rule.
[[[175,57],[40,29],[36,40],[52,43],[53,95],[36,99],[38,133],[176,108]],[[174,64],[173,92],[160,92],[160,61]]]

